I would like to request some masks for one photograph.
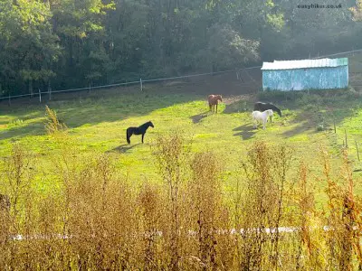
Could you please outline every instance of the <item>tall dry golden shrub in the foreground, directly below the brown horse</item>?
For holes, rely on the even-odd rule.
[[[229,220],[224,208],[221,187],[221,164],[212,153],[195,154],[191,168],[193,177],[187,183],[187,213],[194,242],[190,242],[189,262],[195,270],[220,270],[230,267],[233,258],[230,236],[223,229]],[[194,244],[193,244],[194,243]],[[195,252],[197,251],[197,254]],[[190,266],[191,267],[191,266]]]

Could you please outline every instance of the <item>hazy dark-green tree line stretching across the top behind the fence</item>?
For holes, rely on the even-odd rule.
[[[361,2],[0,0],[0,95],[357,49]]]

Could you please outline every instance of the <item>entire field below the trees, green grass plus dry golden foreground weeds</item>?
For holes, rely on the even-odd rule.
[[[361,94],[256,89],[219,77],[0,104],[0,268],[357,270]],[[255,100],[281,107],[266,130],[252,127]],[[67,133],[46,133],[45,105]],[[128,145],[127,127],[149,120],[145,144]],[[279,227],[298,230],[266,232]]]

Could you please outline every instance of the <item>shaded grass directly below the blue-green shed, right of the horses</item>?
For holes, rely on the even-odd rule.
[[[360,107],[361,96],[349,89],[314,89],[310,91],[264,91],[260,92],[258,99],[270,101],[281,107],[281,113],[286,109],[297,111],[289,125],[291,130],[281,135],[290,137],[303,134],[306,131],[318,133],[317,127],[325,129],[340,125],[348,117],[354,117]],[[288,115],[280,118],[281,121]]]

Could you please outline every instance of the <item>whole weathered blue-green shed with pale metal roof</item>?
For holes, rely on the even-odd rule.
[[[343,89],[348,58],[262,63],[263,90]]]

